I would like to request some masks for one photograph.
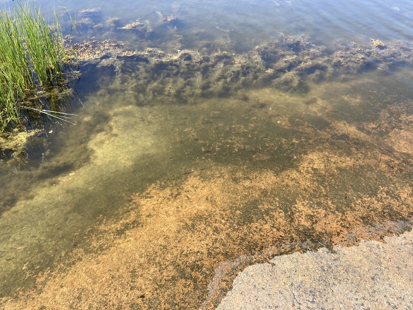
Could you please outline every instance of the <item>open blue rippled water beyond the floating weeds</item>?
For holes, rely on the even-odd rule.
[[[42,2],[38,2],[42,3]],[[46,3],[47,4],[47,3]],[[350,41],[412,39],[411,3],[399,1],[328,1],[296,0],[268,1],[135,1],[70,2],[61,1],[69,11],[98,7],[103,18],[118,16],[123,21],[158,20],[157,12],[176,16],[178,26],[190,32],[205,29],[213,35],[216,26],[232,29],[236,44],[247,41],[260,43],[277,36],[306,34],[327,44],[333,39]],[[73,14],[72,14],[73,15]],[[189,43],[190,44],[190,43]],[[194,44],[194,43],[193,43]]]

